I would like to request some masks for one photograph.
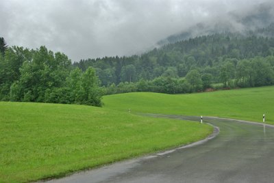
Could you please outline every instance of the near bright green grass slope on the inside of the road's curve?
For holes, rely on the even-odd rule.
[[[0,102],[0,113],[0,182],[56,178],[212,132],[199,123],[80,105]]]

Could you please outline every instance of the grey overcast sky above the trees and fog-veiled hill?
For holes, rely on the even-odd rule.
[[[225,20],[228,12],[245,14],[265,1],[0,0],[0,37],[9,46],[45,45],[72,61],[123,56],[147,51],[197,23]]]

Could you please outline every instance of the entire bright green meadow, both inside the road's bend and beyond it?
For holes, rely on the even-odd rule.
[[[198,141],[206,124],[134,113],[211,115],[274,124],[274,87],[198,94],[129,93],[104,107],[0,102],[0,182],[58,178]],[[128,110],[132,113],[129,113]]]

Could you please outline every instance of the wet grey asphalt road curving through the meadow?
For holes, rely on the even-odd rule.
[[[206,143],[49,182],[274,182],[273,127],[210,117],[203,117],[203,122],[220,128],[219,135]]]

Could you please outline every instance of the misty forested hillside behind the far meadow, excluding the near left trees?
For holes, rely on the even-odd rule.
[[[95,68],[107,94],[197,92],[274,84],[274,24],[240,33],[216,33],[154,48],[142,55],[75,62]]]

